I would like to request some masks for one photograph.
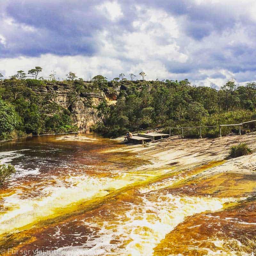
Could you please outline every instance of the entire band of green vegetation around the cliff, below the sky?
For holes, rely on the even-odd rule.
[[[28,74],[37,78],[41,67],[30,69]],[[87,98],[85,108],[92,108],[90,93],[104,92],[116,104],[102,100],[97,107],[99,122],[93,131],[105,136],[118,136],[127,129],[139,131],[146,128],[216,126],[236,124],[256,119],[256,83],[237,86],[228,81],[220,90],[191,85],[188,79],[181,81],[146,81],[146,74],[140,72],[142,80],[134,81],[136,75],[130,73],[128,81],[123,73],[108,81],[105,76],[94,76],[91,81],[77,79],[74,72],[68,72],[65,83],[67,90],[66,108],[55,103],[58,88],[56,72],[49,75],[50,82],[40,77],[26,79],[25,72],[19,70],[11,79],[0,80],[0,139],[13,138],[24,134],[58,133],[75,131],[72,122],[72,108],[81,95]],[[48,90],[48,93],[38,93]],[[58,90],[58,89],[56,89]],[[88,93],[90,92],[90,93]],[[79,103],[80,104],[80,103]],[[79,105],[78,104],[78,105]],[[71,111],[71,112],[70,112]],[[241,133],[250,132],[255,123],[246,124]],[[224,126],[221,134],[238,132],[237,127]],[[171,129],[171,134],[180,130]],[[219,128],[203,128],[202,136],[217,137]],[[185,137],[197,137],[199,130],[184,130]]]

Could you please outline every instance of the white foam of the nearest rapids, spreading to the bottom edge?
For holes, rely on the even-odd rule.
[[[112,222],[105,221],[99,237],[84,246],[69,246],[40,255],[152,255],[154,247],[164,239],[187,216],[204,211],[217,211],[224,203],[234,202],[235,198],[189,197],[159,194],[157,200],[143,197],[143,203],[133,204],[124,212],[127,217]],[[95,223],[86,223],[95,225]],[[113,228],[111,228],[113,226]],[[116,244],[111,240],[119,241]]]

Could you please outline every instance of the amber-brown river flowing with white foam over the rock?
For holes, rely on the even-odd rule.
[[[115,141],[41,136],[4,142],[17,172],[0,190],[3,255],[253,255],[250,175],[139,168]]]

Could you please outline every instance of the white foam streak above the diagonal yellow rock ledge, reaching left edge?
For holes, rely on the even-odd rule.
[[[36,173],[37,170],[32,172]],[[85,174],[70,175],[61,179],[56,178],[54,186],[47,185],[40,190],[39,198],[23,199],[20,197],[22,192],[16,191],[15,196],[4,197],[3,207],[7,210],[0,214],[0,234],[13,232],[52,215],[63,214],[63,211],[56,211],[65,209],[70,204],[106,196],[110,191],[148,179],[147,174],[136,172],[121,172],[113,178],[95,178]]]

